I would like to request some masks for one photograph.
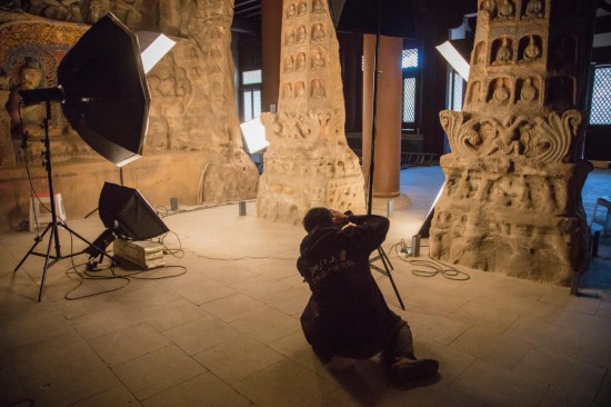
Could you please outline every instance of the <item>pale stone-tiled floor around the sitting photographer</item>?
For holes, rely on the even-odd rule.
[[[309,297],[294,267],[303,231],[258,219],[249,202],[242,217],[237,205],[166,217],[176,235],[164,244],[183,250],[166,261],[180,267],[114,271],[129,279],[97,271],[80,285],[72,267],[81,271],[84,256],[63,259],[41,302],[43,259],[12,271],[34,234],[0,235],[0,405],[611,406],[610,239],[580,296],[477,270],[462,270],[464,281],[419,277],[390,248],[410,244],[442,181],[439,167],[401,173],[412,206],[392,214],[384,248],[407,310],[374,272],[412,326],[418,356],[440,360],[434,380],[393,386],[375,358],[322,366],[299,325]],[[588,216],[610,192],[611,171],[591,173]],[[93,218],[69,225],[93,239],[102,230]],[[66,232],[60,240],[63,254],[82,247]]]

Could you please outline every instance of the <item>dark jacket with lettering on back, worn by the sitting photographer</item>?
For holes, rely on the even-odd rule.
[[[370,358],[393,338],[400,321],[369,268],[389,220],[369,215],[349,221],[354,225],[314,227],[301,242],[297,267],[312,291],[301,326],[317,350]]]

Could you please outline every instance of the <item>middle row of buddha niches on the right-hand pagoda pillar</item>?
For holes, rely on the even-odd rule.
[[[560,36],[551,41],[550,62],[551,63],[572,63],[575,61],[575,39],[571,36]],[[490,54],[492,66],[502,66],[513,62],[528,63],[543,60],[544,56],[543,40],[541,36],[530,34],[512,39],[509,36],[497,38],[492,41],[490,53],[485,49],[485,43],[480,41],[475,44],[473,51],[473,64],[487,64]]]

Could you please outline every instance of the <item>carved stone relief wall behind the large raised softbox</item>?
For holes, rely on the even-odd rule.
[[[0,96],[6,98],[9,108],[6,115],[0,115],[0,131],[3,131],[0,132],[1,168],[23,165],[21,132],[17,131],[21,125],[30,129],[31,135],[40,132],[40,109],[43,107],[21,109],[21,119],[18,119],[14,115],[17,92],[27,87],[56,86],[59,61],[87,30],[87,26],[72,21],[93,23],[112,11],[132,30],[152,27],[158,21],[159,27],[177,40],[172,51],[148,75],[152,100],[144,159],[149,155],[197,152],[197,157],[190,157],[198,162],[202,158],[209,161],[202,178],[209,199],[227,201],[256,196],[259,173],[242,149],[233,97],[233,62],[228,36],[233,1],[168,0],[160,3],[157,16],[152,14],[152,0],[28,3],[27,11],[48,18],[0,11],[0,71],[6,72],[7,82]],[[4,125],[12,127],[12,136],[10,130],[6,133]],[[50,129],[53,161],[76,165],[74,158],[87,158],[103,162],[69,127],[57,103],[52,106]],[[10,148],[7,148],[7,138],[11,141]],[[32,142],[27,153],[38,159],[39,145]],[[193,178],[196,187],[200,181],[199,173],[176,176],[181,180]]]

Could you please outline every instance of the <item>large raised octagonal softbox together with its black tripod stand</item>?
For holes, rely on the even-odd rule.
[[[81,37],[62,59],[57,73],[59,86],[56,88],[20,91],[24,105],[46,103],[47,108],[43,142],[51,221],[34,238],[33,246],[14,269],[17,272],[30,255],[44,257],[39,301],[49,267],[82,252],[103,255],[106,249],[99,245],[99,239],[91,244],[58,219],[49,138],[51,102],[61,102],[63,115],[79,136],[119,167],[141,157],[150,105],[138,38],[112,13],[106,14]],[[88,244],[87,251],[62,255],[59,227]],[[36,251],[49,231],[47,251]]]

